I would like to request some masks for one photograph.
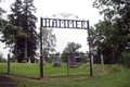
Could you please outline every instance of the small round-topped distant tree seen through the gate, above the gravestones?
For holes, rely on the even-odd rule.
[[[80,44],[68,42],[67,46],[65,47],[65,49],[63,50],[63,55],[62,55],[63,62],[67,62],[67,54],[66,53],[70,53],[73,51],[76,53],[76,55],[78,55],[77,50],[79,48],[81,48]]]

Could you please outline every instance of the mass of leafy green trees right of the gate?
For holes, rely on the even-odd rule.
[[[104,21],[90,28],[92,51],[103,53],[105,63],[130,67],[130,0],[95,0],[93,7]]]

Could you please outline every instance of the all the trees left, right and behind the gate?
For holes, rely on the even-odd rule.
[[[36,50],[39,47],[39,36],[36,32],[37,17],[32,14],[36,12],[32,0],[15,0],[11,4],[11,14],[8,20],[2,18],[5,13],[0,8],[0,33],[1,42],[5,44],[5,48],[11,48],[11,52],[18,58],[18,62],[23,59],[31,59],[34,62],[37,55]],[[130,66],[130,1],[129,0],[95,0],[93,8],[100,10],[100,14],[104,15],[103,21],[99,21],[94,26],[90,27],[91,51],[95,57],[104,54],[105,63],[120,63]],[[55,51],[55,35],[52,29],[43,29],[43,53]],[[78,53],[81,45],[69,44],[63,50],[63,53],[72,50]],[[62,59],[65,62],[66,57]]]

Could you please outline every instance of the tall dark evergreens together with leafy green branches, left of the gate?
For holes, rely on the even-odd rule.
[[[34,0],[15,0],[11,4],[12,14],[8,21],[2,21],[1,41],[12,48],[12,52],[21,62],[24,58],[34,59],[36,55],[38,37],[36,32],[37,17],[32,15],[36,8]],[[29,50],[29,51],[27,51]]]

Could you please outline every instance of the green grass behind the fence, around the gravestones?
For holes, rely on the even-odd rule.
[[[77,69],[68,69],[69,75],[87,75],[90,74],[89,64],[82,64]],[[105,64],[105,69],[108,69],[109,65]],[[101,64],[94,64],[94,72],[102,71]],[[8,73],[8,64],[0,63],[0,73]],[[11,74],[18,74],[28,77],[40,77],[40,66],[38,63],[11,63]],[[67,65],[62,64],[61,67],[53,67],[53,64],[46,64],[43,66],[43,76],[67,76]]]

